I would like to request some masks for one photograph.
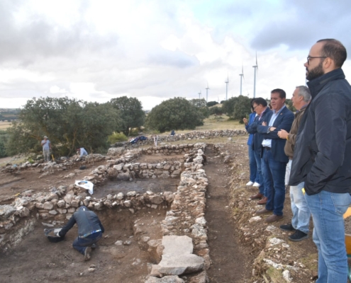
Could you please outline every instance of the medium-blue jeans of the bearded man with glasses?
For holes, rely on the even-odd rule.
[[[313,217],[313,241],[318,248],[318,279],[316,283],[346,283],[347,255],[345,226],[342,214],[351,203],[350,194],[322,190],[305,195]]]

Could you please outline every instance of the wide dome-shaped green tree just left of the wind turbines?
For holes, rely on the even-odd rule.
[[[204,117],[185,98],[172,98],[152,108],[146,118],[146,126],[160,132],[172,129],[195,129],[204,125]]]

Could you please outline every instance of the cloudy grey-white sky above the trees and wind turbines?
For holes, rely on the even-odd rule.
[[[33,97],[104,103],[136,97],[145,110],[174,97],[288,97],[321,38],[351,54],[348,0],[1,0],[0,108]],[[351,56],[349,57],[351,58]],[[343,67],[351,77],[351,61]]]

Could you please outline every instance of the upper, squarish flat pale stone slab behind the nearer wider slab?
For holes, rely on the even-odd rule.
[[[193,241],[188,236],[163,236],[162,255],[190,255],[193,253]]]

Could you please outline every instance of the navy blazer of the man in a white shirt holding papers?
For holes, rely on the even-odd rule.
[[[273,112],[270,113],[270,115],[267,115],[264,117],[264,122],[269,125],[269,120],[271,120],[271,117],[273,115]],[[258,125],[257,126],[257,132],[263,135],[263,139],[272,139],[272,156],[274,158],[274,161],[279,161],[279,162],[286,162],[288,163],[289,157],[286,156],[284,152],[284,146],[286,139],[281,139],[278,137],[278,132],[281,129],[285,129],[286,132],[290,132],[292,122],[294,122],[294,113],[291,112],[288,108],[284,107],[282,109],[282,112],[278,115],[277,119],[274,121],[273,125],[271,127],[276,127],[274,131],[268,132],[269,126],[262,126]]]

